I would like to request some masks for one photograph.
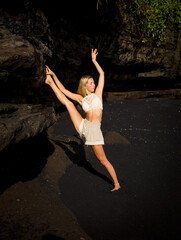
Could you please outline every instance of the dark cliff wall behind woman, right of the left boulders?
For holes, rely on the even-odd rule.
[[[153,90],[180,86],[181,32],[174,24],[167,29],[160,47],[138,42],[138,27],[126,0],[68,2],[57,6],[39,4],[54,40],[50,64],[70,88],[77,87],[84,73],[96,75],[90,49],[98,48],[98,59],[106,73],[106,90]],[[52,14],[53,13],[53,14]],[[76,90],[76,89],[75,89]]]

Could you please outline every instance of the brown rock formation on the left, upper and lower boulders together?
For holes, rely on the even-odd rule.
[[[44,56],[52,55],[41,41],[48,32],[47,19],[25,5],[19,11],[18,3],[17,8],[6,4],[0,10],[0,151],[42,133],[56,121],[53,107],[37,105],[42,103]]]

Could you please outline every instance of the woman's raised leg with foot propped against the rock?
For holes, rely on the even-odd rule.
[[[48,84],[52,88],[52,90],[56,94],[58,100],[63,105],[65,105],[65,107],[67,108],[67,110],[69,112],[70,118],[74,124],[75,129],[79,133],[79,126],[80,126],[80,123],[83,118],[80,115],[80,113],[77,111],[77,109],[75,108],[74,104],[71,101],[69,101],[68,98],[60,91],[60,89],[54,83],[54,81],[50,75],[46,76],[45,83]]]

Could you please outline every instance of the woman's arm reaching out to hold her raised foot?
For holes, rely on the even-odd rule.
[[[57,87],[60,89],[61,92],[63,92],[63,94],[65,94],[68,98],[77,101],[78,103],[82,103],[82,96],[76,93],[72,93],[69,90],[67,90],[63,84],[59,81],[59,79],[57,78],[56,74],[46,65],[46,74],[53,76],[53,79],[55,80],[55,83],[57,85]]]

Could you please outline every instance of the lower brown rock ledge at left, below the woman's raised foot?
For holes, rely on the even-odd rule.
[[[52,107],[0,104],[0,151],[42,133],[56,119]]]

